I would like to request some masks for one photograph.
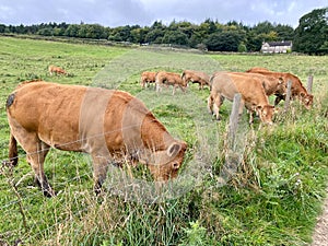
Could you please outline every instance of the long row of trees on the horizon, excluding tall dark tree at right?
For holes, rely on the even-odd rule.
[[[218,21],[207,19],[199,25],[187,21],[173,21],[169,25],[164,25],[161,21],[155,21],[151,26],[145,27],[126,25],[113,28],[84,23],[43,23],[32,26],[0,25],[0,33],[108,39],[133,44],[172,44],[191,48],[198,48],[208,43],[206,47],[208,50],[219,51],[237,51],[238,44],[244,42],[248,50],[259,51],[263,40],[292,39],[294,30],[288,25],[276,25],[269,22],[261,22],[250,27],[235,21],[220,24]],[[215,42],[218,35],[220,40]]]

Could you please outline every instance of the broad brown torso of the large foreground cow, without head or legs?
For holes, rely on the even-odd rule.
[[[9,98],[14,132],[35,132],[57,149],[108,155],[165,150],[174,141],[140,99],[122,91],[37,82]]]

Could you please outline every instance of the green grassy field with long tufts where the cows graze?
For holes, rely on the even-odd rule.
[[[143,194],[108,174],[107,195],[93,194],[92,165],[80,153],[51,150],[46,175],[58,191],[45,198],[20,150],[14,169],[1,167],[0,245],[307,245],[328,180],[328,57],[200,55],[0,37],[0,156],[8,156],[5,99],[25,80],[119,89],[141,98],[176,138],[188,143],[177,181],[163,197],[151,191],[145,168],[133,171]],[[68,77],[49,77],[57,65]],[[222,184],[229,155],[231,104],[215,121],[207,112],[209,90],[157,95],[139,85],[141,71],[196,69],[289,71],[306,84],[314,75],[314,107],[298,102],[274,126],[249,127],[243,116],[234,154],[239,165]],[[273,98],[270,98],[272,101]],[[283,103],[280,105],[283,107]],[[115,171],[118,172],[118,171]],[[115,173],[116,174],[116,173]],[[143,183],[145,180],[145,183]],[[122,195],[121,195],[122,194]]]

